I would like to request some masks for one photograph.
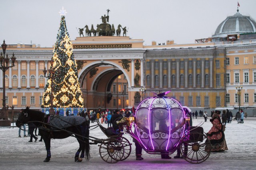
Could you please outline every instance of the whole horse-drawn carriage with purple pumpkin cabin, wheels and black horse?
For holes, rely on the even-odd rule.
[[[45,121],[45,114],[41,112],[34,116],[28,107],[20,113],[16,125],[20,127],[22,123],[33,121],[37,126],[46,128],[40,129],[47,150],[44,162],[50,160],[50,139],[63,139],[68,136],[76,137],[80,144],[80,148],[75,154],[75,161],[82,161],[80,158],[84,156],[86,159],[90,158],[89,144],[99,144],[100,156],[105,162],[116,163],[125,160],[131,153],[132,145],[128,139],[123,137],[125,133],[130,135],[149,154],[169,155],[180,149],[186,161],[190,163],[204,162],[210,156],[211,144],[204,134],[203,128],[189,126],[190,115],[188,113],[190,109],[182,107],[178,100],[167,97],[166,94],[167,92],[146,98],[139,104],[134,115],[116,120],[120,127],[118,134],[97,122],[108,139],[89,136],[89,129],[85,123],[65,129],[54,126],[58,129],[57,131],[51,130],[52,127],[48,127],[49,130],[46,130],[49,124]],[[82,154],[78,158],[81,151]]]

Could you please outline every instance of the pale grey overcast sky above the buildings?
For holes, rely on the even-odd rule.
[[[239,12],[256,18],[256,0],[239,0]],[[60,25],[62,6],[68,12],[66,24],[71,40],[79,37],[77,28],[109,23],[128,29],[127,36],[166,43],[194,43],[211,37],[217,26],[237,10],[237,0],[0,0],[0,43],[23,42],[52,47]],[[85,33],[84,33],[85,35]]]

